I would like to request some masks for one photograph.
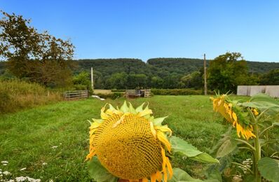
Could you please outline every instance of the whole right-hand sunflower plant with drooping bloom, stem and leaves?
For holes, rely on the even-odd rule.
[[[215,111],[221,113],[233,127],[236,126],[238,137],[241,134],[245,138],[245,140],[234,139],[225,134],[214,148],[215,151],[219,148],[216,152],[217,157],[224,158],[239,148],[240,151],[252,155],[252,168],[250,162],[249,165],[247,162],[243,164],[231,162],[231,164],[240,166],[247,177],[250,175],[256,181],[261,181],[261,176],[270,181],[278,181],[278,156],[275,155],[278,153],[278,147],[275,146],[278,146],[279,141],[276,139],[278,133],[272,132],[274,127],[279,126],[278,100],[266,94],[257,94],[247,102],[239,102],[222,95],[213,99],[213,105]]]

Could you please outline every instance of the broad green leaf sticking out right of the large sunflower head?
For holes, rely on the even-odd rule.
[[[188,144],[183,139],[179,139],[178,137],[170,137],[170,143],[172,144],[172,150],[174,153],[185,155],[186,157],[199,162],[219,163],[219,160],[212,158],[207,153],[198,151],[196,147]]]

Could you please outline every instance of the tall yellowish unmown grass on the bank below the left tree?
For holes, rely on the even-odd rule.
[[[58,92],[48,91],[37,83],[0,80],[0,113],[14,112],[61,99]]]

